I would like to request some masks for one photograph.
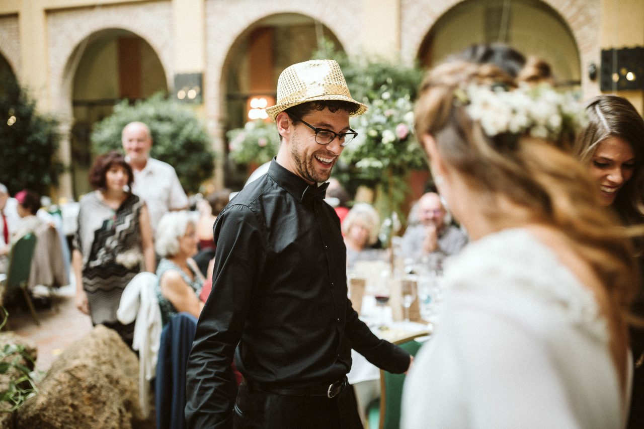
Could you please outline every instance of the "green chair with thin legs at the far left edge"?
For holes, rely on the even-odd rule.
[[[40,321],[36,316],[36,310],[33,307],[32,296],[27,290],[35,245],[36,236],[34,234],[26,234],[11,248],[6,280],[3,282],[3,294],[5,296],[6,294],[14,294],[20,289],[32,313],[33,320],[35,320],[37,325],[40,325]]]

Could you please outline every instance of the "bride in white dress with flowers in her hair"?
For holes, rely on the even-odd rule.
[[[415,108],[439,192],[471,243],[446,267],[404,428],[623,428],[636,266],[591,178],[562,151],[575,108],[502,73],[435,68]]]

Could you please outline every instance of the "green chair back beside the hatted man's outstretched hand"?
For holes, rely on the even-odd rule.
[[[428,332],[419,332],[411,337],[395,341],[394,344],[404,348],[410,355],[416,356],[422,345],[416,338],[427,335]],[[404,377],[405,374],[380,371],[380,429],[398,429],[400,427]]]

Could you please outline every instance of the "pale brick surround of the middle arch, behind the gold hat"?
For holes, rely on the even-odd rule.
[[[359,52],[359,25],[343,25],[346,17],[354,23],[361,21],[361,0],[343,2],[308,3],[300,0],[264,2],[258,8],[254,0],[236,2],[207,2],[206,15],[206,67],[204,74],[204,100],[207,128],[213,136],[213,149],[223,152],[222,106],[225,90],[222,77],[225,61],[237,41],[254,23],[277,14],[301,14],[319,21],[331,30],[348,53]],[[222,25],[225,23],[225,25]],[[222,159],[218,158],[218,171]],[[223,186],[221,174],[215,176],[217,186]]]

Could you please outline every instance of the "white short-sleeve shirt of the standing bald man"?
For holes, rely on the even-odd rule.
[[[153,158],[147,159],[144,169],[134,169],[132,192],[146,202],[153,231],[156,231],[156,225],[168,211],[184,209],[188,205],[188,197],[175,169]]]

